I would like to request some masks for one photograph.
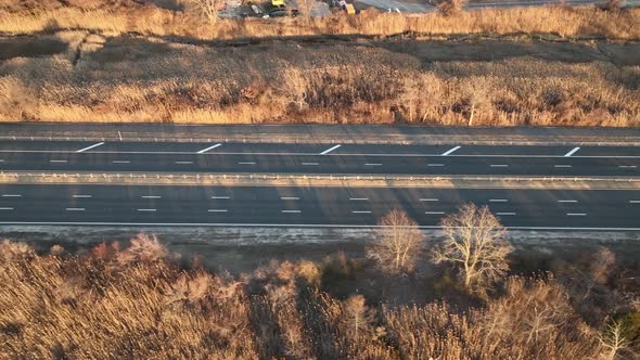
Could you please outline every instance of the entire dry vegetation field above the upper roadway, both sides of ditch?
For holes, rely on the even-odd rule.
[[[68,3],[0,5],[0,120],[640,124],[640,10],[212,25],[172,1]]]

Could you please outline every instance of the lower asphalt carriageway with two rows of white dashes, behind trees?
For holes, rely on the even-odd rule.
[[[461,204],[512,228],[640,230],[640,191],[0,185],[0,223],[374,226],[402,208],[434,227]]]

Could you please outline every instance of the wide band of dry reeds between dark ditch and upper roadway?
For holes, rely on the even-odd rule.
[[[0,120],[640,125],[637,43],[49,38],[68,49],[0,63]]]

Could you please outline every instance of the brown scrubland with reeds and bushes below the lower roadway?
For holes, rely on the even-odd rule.
[[[230,275],[146,235],[77,254],[4,241],[0,357],[636,359],[637,260],[514,254],[484,295],[420,261],[397,275],[338,253]]]

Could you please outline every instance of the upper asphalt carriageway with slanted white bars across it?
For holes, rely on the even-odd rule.
[[[0,170],[636,177],[638,146],[0,141]]]

